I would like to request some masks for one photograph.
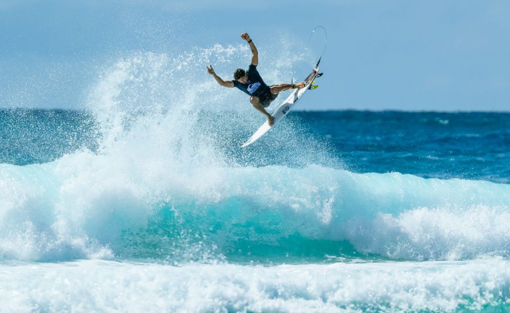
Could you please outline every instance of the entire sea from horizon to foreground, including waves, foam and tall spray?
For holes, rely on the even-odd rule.
[[[1,311],[510,309],[509,113],[296,111],[240,149],[264,117],[177,86],[247,53],[134,53],[83,109],[0,110]]]

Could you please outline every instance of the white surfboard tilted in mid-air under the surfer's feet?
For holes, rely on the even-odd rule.
[[[271,114],[271,116],[274,118],[274,124],[269,126],[269,122],[266,121],[245,143],[243,143],[241,148],[248,147],[253,142],[257,141],[260,137],[264,136],[268,131],[271,130],[271,128],[275,127],[280,121],[282,121],[285,116],[287,116],[287,113],[292,110],[297,101],[303,97],[303,94],[307,92],[307,90],[317,88],[312,87],[312,83],[314,82],[315,78],[322,75],[322,73],[319,73],[320,59],[321,58],[319,58],[319,61],[317,61],[315,68],[312,70],[312,73],[310,73],[310,75],[308,75],[307,78],[303,80],[304,87],[292,91],[289,97],[273,112],[273,114]]]

